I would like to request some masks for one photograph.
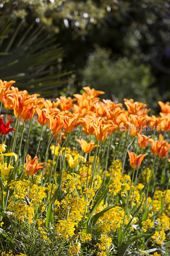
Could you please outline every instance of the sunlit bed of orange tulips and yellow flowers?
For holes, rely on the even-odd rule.
[[[169,102],[153,116],[14,83],[0,80],[1,255],[169,256]]]

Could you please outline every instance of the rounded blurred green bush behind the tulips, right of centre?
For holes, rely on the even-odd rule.
[[[155,100],[159,100],[159,93],[151,87],[155,80],[151,66],[126,57],[114,60],[111,55],[111,51],[100,47],[89,54],[81,70],[82,83],[106,92],[105,97],[111,100],[123,102],[123,98],[130,99],[133,95],[135,100],[153,106]]]

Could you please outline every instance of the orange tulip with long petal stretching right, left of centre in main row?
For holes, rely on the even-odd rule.
[[[85,120],[76,119],[75,117],[63,116],[63,128],[66,132],[72,132],[78,124],[85,123]]]

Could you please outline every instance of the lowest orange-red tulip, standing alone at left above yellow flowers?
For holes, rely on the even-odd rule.
[[[26,156],[26,172],[29,175],[33,175],[36,172],[38,172],[40,169],[43,169],[44,167],[47,166],[47,165],[42,166],[42,164],[45,164],[45,163],[38,163],[38,157],[36,155],[33,158],[33,160],[31,160],[30,155]]]

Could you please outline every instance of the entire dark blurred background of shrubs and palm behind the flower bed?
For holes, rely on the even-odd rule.
[[[156,109],[170,96],[169,1],[1,0],[0,77],[43,97],[89,85]]]

